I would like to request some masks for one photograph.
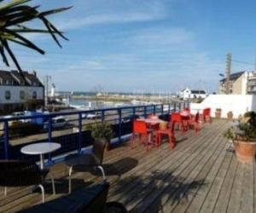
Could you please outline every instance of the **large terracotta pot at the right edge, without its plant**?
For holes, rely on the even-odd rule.
[[[256,153],[256,141],[235,141],[236,158],[241,163],[253,162]]]

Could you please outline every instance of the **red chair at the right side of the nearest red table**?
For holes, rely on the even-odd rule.
[[[157,146],[160,146],[161,143],[161,136],[162,135],[167,135],[169,139],[169,144],[170,144],[170,149],[173,149],[176,145],[176,140],[174,136],[174,123],[170,122],[169,127],[166,130],[157,130],[156,131],[156,141],[157,141]]]

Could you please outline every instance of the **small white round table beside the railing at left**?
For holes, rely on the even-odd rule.
[[[61,144],[54,142],[43,142],[26,145],[20,149],[21,153],[24,154],[39,154],[40,155],[40,168],[44,169],[44,154],[52,153],[55,150],[61,148]]]

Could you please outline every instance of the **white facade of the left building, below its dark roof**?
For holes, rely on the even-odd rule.
[[[5,99],[5,91],[9,90],[11,98]],[[25,92],[25,99],[20,100],[20,90]],[[37,100],[44,100],[43,87],[24,87],[24,86],[0,86],[0,104],[22,103],[32,99],[33,91],[37,92]]]

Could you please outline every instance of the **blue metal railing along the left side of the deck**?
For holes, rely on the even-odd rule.
[[[0,130],[0,139],[2,131],[2,142],[0,142],[0,158],[32,158],[32,156],[25,156],[20,153],[20,147],[25,146],[27,143],[31,142],[41,142],[41,141],[56,141],[61,143],[61,150],[53,153],[53,155],[58,155],[62,153],[68,153],[77,150],[81,153],[82,148],[89,146],[93,141],[90,137],[90,132],[88,130],[83,130],[85,125],[91,124],[83,117],[84,114],[100,112],[101,118],[96,119],[94,122],[108,122],[112,124],[114,137],[118,141],[122,141],[122,136],[131,133],[131,118],[136,118],[136,116],[146,117],[150,113],[158,114],[164,116],[165,114],[170,114],[173,111],[181,110],[182,108],[189,107],[189,102],[181,103],[170,103],[166,105],[147,105],[147,106],[132,106],[132,107],[112,107],[112,108],[102,108],[96,110],[84,110],[84,111],[72,111],[72,112],[54,112],[49,114],[40,114],[34,116],[20,116],[14,118],[0,118],[0,124],[3,124],[3,130]],[[53,136],[52,119],[57,116],[77,116],[77,118],[69,118],[69,122],[73,123],[73,126],[78,128],[78,132],[68,133],[59,136]],[[37,141],[30,141],[25,143],[19,143],[18,145],[10,144],[10,127],[9,123],[12,121],[24,121],[33,120],[36,118],[44,118],[48,121],[47,125],[47,139],[40,139]],[[163,117],[164,118],[164,117]],[[166,117],[168,118],[168,116]],[[84,124],[84,120],[86,123]],[[72,127],[73,127],[72,126]],[[24,139],[24,138],[23,138]],[[17,139],[16,139],[17,140]],[[2,149],[1,149],[2,148]],[[37,157],[33,157],[37,158]],[[49,162],[51,162],[52,155],[49,155]]]

